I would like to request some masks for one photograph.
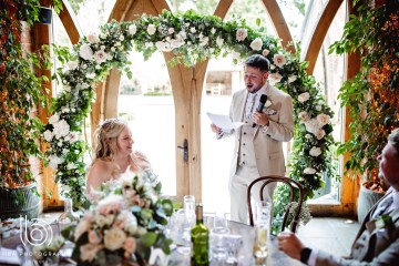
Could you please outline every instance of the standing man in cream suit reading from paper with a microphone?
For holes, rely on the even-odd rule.
[[[233,95],[229,116],[244,125],[232,132],[223,132],[211,125],[217,137],[235,135],[235,147],[229,178],[231,218],[248,223],[246,191],[252,181],[265,175],[285,175],[283,142],[293,139],[293,99],[267,82],[269,61],[255,54],[245,61],[246,89]],[[260,96],[267,101],[262,112],[256,109]],[[258,186],[254,186],[256,191]],[[275,185],[268,185],[264,198],[272,202]],[[254,193],[256,201],[259,195]]]

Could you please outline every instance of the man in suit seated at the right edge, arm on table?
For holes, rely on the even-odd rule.
[[[279,249],[307,265],[399,265],[399,129],[388,136],[378,161],[378,176],[390,188],[365,217],[349,257],[310,249],[286,232],[277,237]]]

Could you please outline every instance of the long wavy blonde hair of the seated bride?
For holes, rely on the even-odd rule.
[[[117,154],[117,137],[127,127],[127,123],[119,119],[108,119],[94,132],[95,158],[112,158]]]

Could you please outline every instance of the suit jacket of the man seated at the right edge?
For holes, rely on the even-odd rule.
[[[391,192],[392,190],[388,191],[387,195]],[[345,258],[319,250],[316,258],[317,266],[399,265],[399,209],[397,208],[390,213],[393,222],[391,228],[386,227],[378,229],[375,228],[375,222],[370,221],[378,203],[371,208],[362,222],[351,247],[350,256]]]

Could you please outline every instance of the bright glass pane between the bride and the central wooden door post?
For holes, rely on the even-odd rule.
[[[172,86],[161,53],[144,61],[131,53],[130,80],[123,75],[117,103],[119,117],[129,122],[134,150],[147,155],[165,195],[176,195],[175,114]]]

